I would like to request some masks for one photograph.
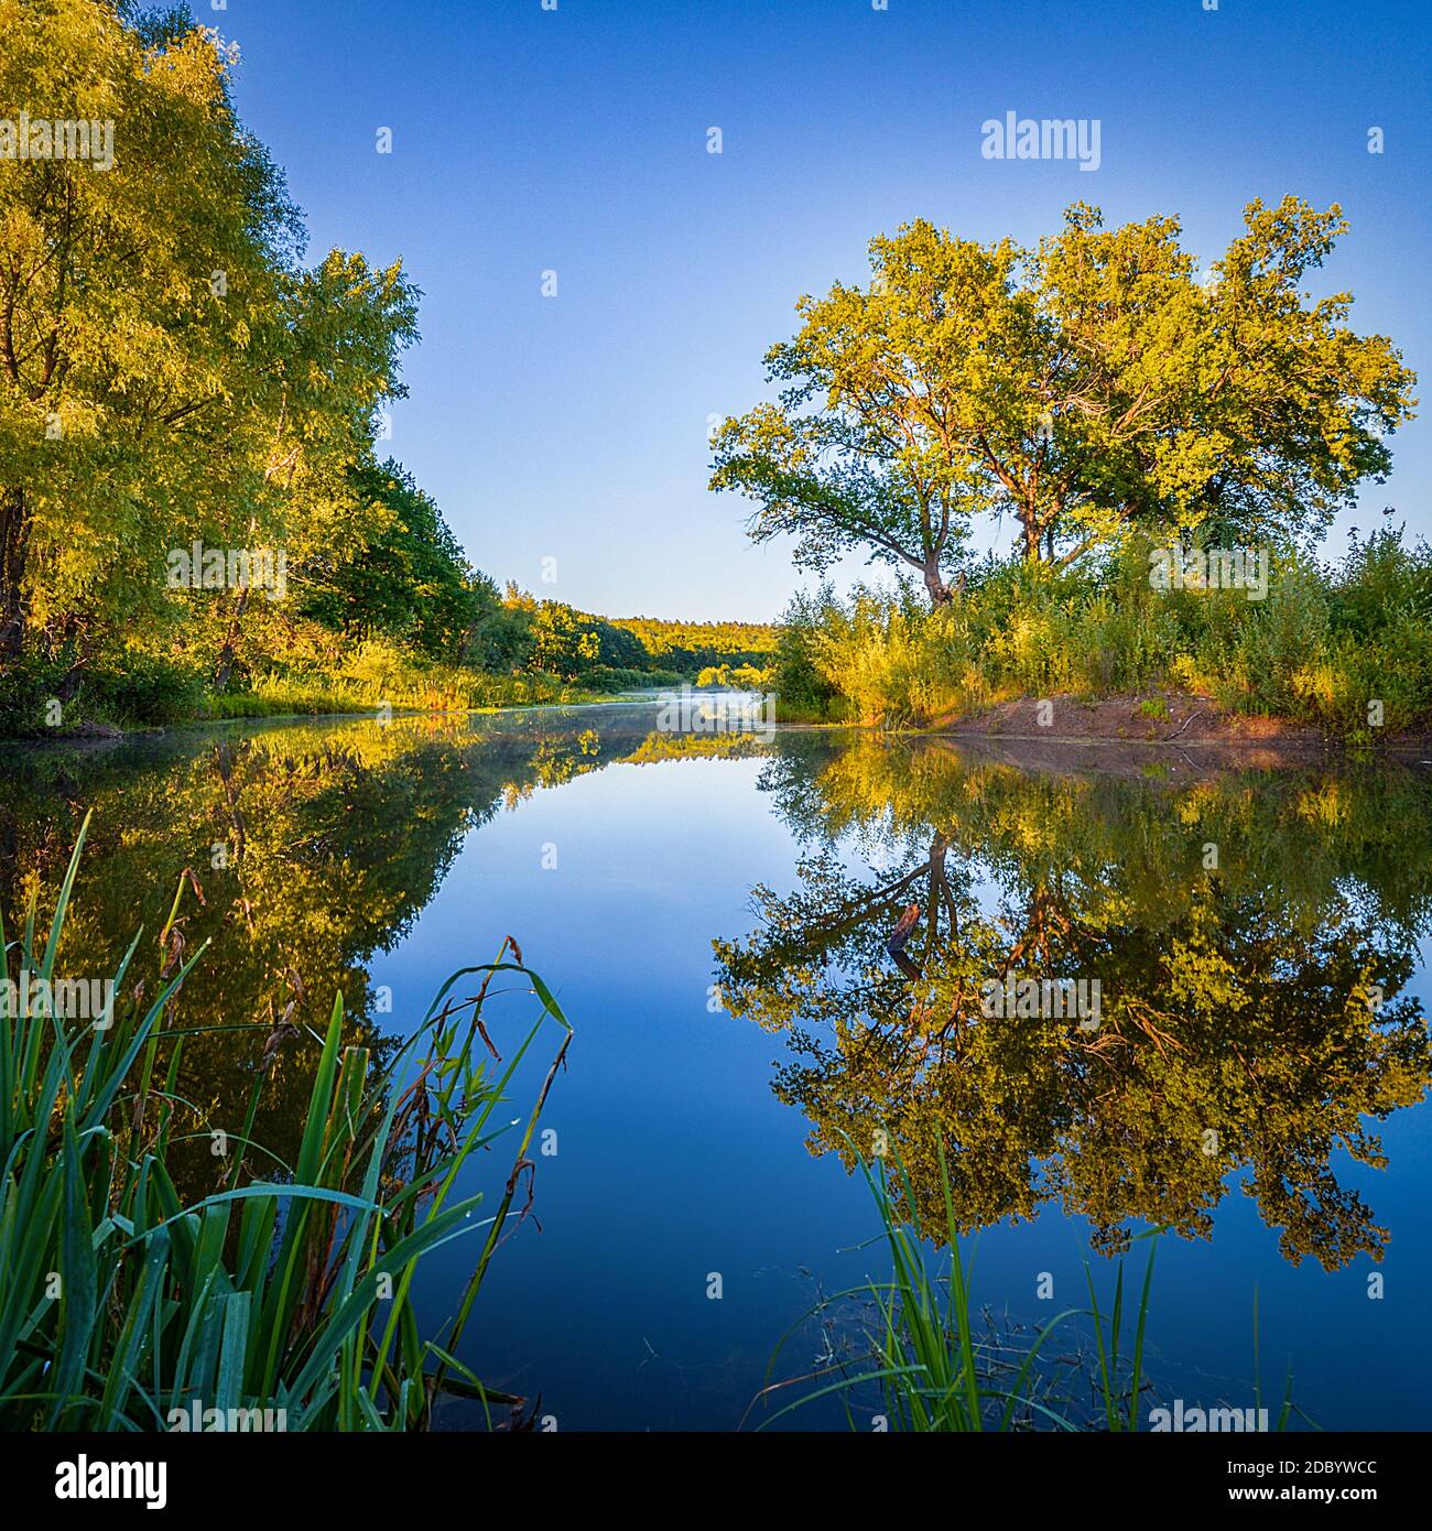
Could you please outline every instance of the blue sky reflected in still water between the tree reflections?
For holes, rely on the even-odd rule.
[[[864,1183],[833,1157],[812,1159],[804,1118],[770,1093],[783,1041],[706,1009],[712,937],[749,932],[754,883],[795,882],[798,847],[757,792],[760,772],[755,759],[619,764],[539,790],[467,841],[417,929],[372,963],[401,1018],[512,932],[576,1027],[544,1118],[561,1151],[538,1157],[542,1231],[528,1222],[502,1248],[466,1353],[492,1384],[541,1392],[561,1428],[729,1428],[816,1283],[884,1274],[878,1246],[852,1248],[876,1228]],[[556,870],[542,870],[545,845]],[[997,888],[986,879],[979,891],[992,911]],[[1426,966],[1417,992],[1427,998]],[[512,1009],[489,1012],[507,1015],[490,1020],[495,1036],[510,1040],[528,1004],[499,1001]],[[553,1032],[499,1115],[525,1115],[554,1047]],[[1296,1399],[1323,1425],[1432,1424],[1432,1113],[1404,1110],[1378,1130],[1388,1171],[1345,1156],[1332,1168],[1392,1231],[1385,1300],[1368,1300],[1366,1258],[1334,1274],[1287,1265],[1236,1173],[1213,1242],[1170,1237],[1159,1249],[1149,1364],[1167,1398],[1251,1404],[1256,1288],[1267,1404],[1291,1363]],[[510,1153],[495,1150],[484,1183],[501,1183]],[[1086,1251],[1081,1220],[1051,1209],[986,1229],[976,1292],[1037,1321],[1084,1300]],[[459,1243],[430,1265],[435,1318],[447,1311],[440,1289],[461,1283],[469,1258]],[[1089,1258],[1112,1291],[1113,1265]],[[712,1271],[721,1301],[706,1297]],[[1035,1301],[1043,1271],[1054,1303]],[[796,1343],[775,1375],[804,1370],[815,1347],[815,1337]]]

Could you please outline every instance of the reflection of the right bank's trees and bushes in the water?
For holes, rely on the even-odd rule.
[[[848,1159],[842,1134],[868,1153],[885,1131],[937,1228],[943,1141],[963,1226],[1058,1202],[1106,1249],[1136,1220],[1207,1234],[1244,1168],[1290,1258],[1380,1258],[1386,1229],[1329,1160],[1381,1165],[1363,1118],[1417,1102],[1432,1073],[1398,997],[1432,908],[1424,781],[1172,793],[867,739],[783,752],[766,784],[827,844],[796,893],[757,890],[760,928],[717,955],[726,1006],[790,1036],[776,1093],[813,1151]],[[847,834],[875,880],[842,865]],[[887,942],[911,903],[901,963]],[[980,984],[1006,972],[1098,978],[1100,1027],[985,1018]]]

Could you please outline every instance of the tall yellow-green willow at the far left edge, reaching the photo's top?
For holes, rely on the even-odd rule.
[[[0,0],[0,32],[8,107],[113,132],[109,168],[0,158],[0,608],[15,652],[31,625],[74,638],[100,609],[153,600],[144,554],[211,482],[199,416],[254,395],[247,337],[276,305],[294,227],[234,132],[211,37],[147,40],[92,0]]]

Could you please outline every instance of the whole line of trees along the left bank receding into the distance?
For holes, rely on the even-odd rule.
[[[182,8],[0,0],[0,35],[6,732],[101,698],[149,721],[365,645],[387,683],[750,657],[754,629],[610,623],[472,566],[383,450],[421,294],[400,262],[308,259],[217,34]],[[49,127],[74,121],[107,124],[104,161]]]

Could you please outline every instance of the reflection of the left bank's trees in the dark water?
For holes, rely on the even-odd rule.
[[[262,1075],[251,1134],[291,1164],[317,1064],[311,1040],[334,994],[355,1033],[386,1056],[377,1032],[387,997],[366,965],[410,929],[463,837],[504,802],[622,758],[648,727],[649,713],[613,720],[602,735],[536,713],[479,733],[400,718],[15,755],[0,808],[0,917],[14,926],[31,891],[41,914],[52,912],[90,808],[84,897],[60,954],[66,972],[113,972],[136,926],[152,952],[190,868],[176,940],[190,952],[205,940],[211,949],[173,1001],[173,1024],[211,1026],[217,1015],[224,1027],[187,1040],[176,1093],[196,1119],[237,1131]],[[504,934],[481,932],[489,949],[479,955]],[[427,995],[394,997],[394,1030],[415,1020],[409,998]],[[224,1170],[207,1139],[176,1145],[172,1165],[202,1190]]]

